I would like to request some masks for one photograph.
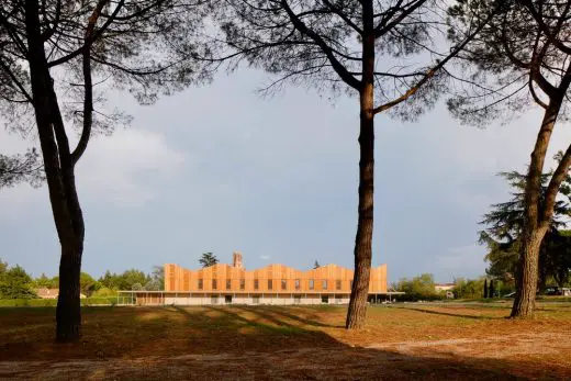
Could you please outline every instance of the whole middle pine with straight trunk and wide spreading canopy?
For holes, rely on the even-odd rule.
[[[365,324],[373,233],[374,116],[414,120],[432,108],[448,77],[441,68],[478,32],[437,52],[446,35],[439,0],[224,0],[214,61],[247,60],[284,83],[346,91],[358,98],[359,189],[355,281],[347,328]],[[441,46],[440,46],[441,47]],[[414,101],[413,101],[414,100]]]

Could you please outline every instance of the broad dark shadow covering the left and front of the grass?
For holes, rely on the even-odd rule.
[[[354,347],[331,335],[331,329],[343,329],[339,325],[324,323],[318,310],[310,307],[87,309],[82,341],[67,346],[53,343],[53,326],[45,324],[51,318],[47,314],[44,320],[34,314],[24,320],[24,327],[2,329],[0,379],[571,377],[567,368],[545,369],[525,360],[419,356]]]

